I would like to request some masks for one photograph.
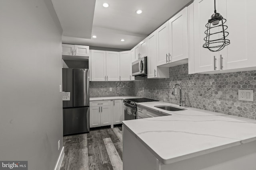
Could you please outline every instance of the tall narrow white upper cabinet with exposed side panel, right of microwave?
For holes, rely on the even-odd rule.
[[[148,36],[148,78],[168,78],[168,67],[156,65],[156,31]]]

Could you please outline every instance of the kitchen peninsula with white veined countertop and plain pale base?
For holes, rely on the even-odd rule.
[[[138,105],[166,116],[123,121],[124,170],[242,170],[245,163],[255,170],[256,121],[154,107],[166,102]]]

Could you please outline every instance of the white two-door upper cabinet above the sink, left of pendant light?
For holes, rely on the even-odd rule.
[[[188,62],[187,7],[156,30],[156,43],[157,66],[175,66]],[[182,62],[174,63],[177,61]]]

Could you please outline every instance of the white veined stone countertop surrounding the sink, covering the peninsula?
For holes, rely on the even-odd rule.
[[[137,105],[166,114],[123,121],[123,125],[163,164],[256,141],[255,120],[192,107],[184,107],[183,111],[154,107],[178,106],[166,102]]]

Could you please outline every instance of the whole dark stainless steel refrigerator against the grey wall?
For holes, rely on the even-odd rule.
[[[70,92],[63,101],[63,135],[89,132],[89,69],[62,68],[62,91]]]

